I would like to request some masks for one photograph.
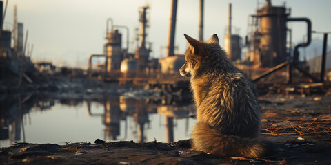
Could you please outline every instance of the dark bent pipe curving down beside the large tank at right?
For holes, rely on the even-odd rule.
[[[305,43],[299,43],[294,47],[293,63],[297,63],[299,62],[299,47],[307,47],[312,40],[312,22],[307,18],[288,18],[286,22],[288,21],[305,21],[307,23],[307,41]]]

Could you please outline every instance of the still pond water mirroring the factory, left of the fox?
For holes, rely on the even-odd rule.
[[[84,110],[82,107],[82,112],[85,111],[85,114],[80,113],[80,105],[83,105],[83,102],[86,102],[87,106],[87,113],[86,109]],[[156,138],[159,142],[173,142],[174,137],[177,138],[176,140],[189,138],[189,129],[192,127],[189,124],[189,120],[192,120],[192,124],[195,121],[195,119],[189,117],[194,113],[194,106],[190,102],[183,101],[183,98],[174,96],[162,96],[159,98],[117,96],[103,98],[102,100],[19,96],[19,98],[12,102],[6,102],[5,106],[3,104],[2,102],[0,123],[1,147],[10,146],[13,142],[61,143],[63,142],[61,141],[62,139],[65,142],[70,142],[72,139],[83,139],[87,142],[94,142],[97,138],[106,141],[134,140],[135,142],[147,142]],[[70,109],[76,111],[76,116],[71,115],[72,110]],[[39,114],[39,112],[42,113]],[[36,113],[40,117],[35,117],[37,116]],[[70,125],[61,126],[63,125],[61,122],[64,119],[56,116],[63,116],[62,113],[66,115],[66,118],[69,118],[69,120],[66,120],[68,124],[74,125],[80,123],[80,120],[83,120],[84,126],[95,132],[89,133],[92,135],[86,135],[88,133],[84,134],[81,131],[79,133],[74,133],[74,130],[63,131],[71,127]],[[50,131],[50,133],[37,129],[40,123],[36,120],[41,120],[39,118],[46,120],[51,125],[44,126],[47,127],[45,130]],[[98,121],[98,118],[99,124],[102,123],[103,126],[98,126],[95,123],[95,121]],[[54,120],[56,123],[53,124],[51,120]],[[37,123],[39,125],[36,125]],[[84,127],[83,124],[79,124],[78,126]],[[28,129],[25,130],[25,127]],[[58,128],[50,129],[48,127]],[[56,130],[59,130],[60,133]],[[82,128],[82,130],[85,129]],[[97,130],[103,130],[102,135],[98,134]],[[61,133],[62,131],[66,133]],[[68,133],[70,131],[71,133]],[[31,134],[34,133],[38,135],[32,137]],[[54,133],[52,137],[55,140],[51,140],[52,138],[48,137],[48,134],[51,133]],[[185,135],[181,135],[181,133],[185,133]],[[25,137],[25,134],[28,134],[28,136]],[[80,135],[83,137],[74,138],[72,134],[77,136],[83,134]],[[56,136],[59,137],[55,138]],[[39,140],[38,138],[43,139]]]

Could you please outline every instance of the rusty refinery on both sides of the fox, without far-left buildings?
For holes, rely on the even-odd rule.
[[[203,0],[199,3],[199,40],[203,37]],[[120,83],[148,83],[150,86],[160,85],[170,88],[178,86],[178,81],[185,82],[177,74],[177,70],[183,65],[183,55],[174,54],[174,32],[177,17],[177,1],[172,1],[170,9],[170,25],[168,33],[168,45],[166,56],[163,59],[151,59],[150,47],[147,47],[146,36],[147,27],[150,24],[148,17],[148,6],[141,7],[139,10],[139,34],[137,34],[137,48],[134,54],[128,52],[127,47],[122,48],[122,35],[119,29],[126,28],[121,25],[113,25],[112,19],[107,20],[107,43],[104,46],[103,54],[91,54],[88,63],[88,73],[90,77],[102,80],[119,81]],[[228,26],[225,27],[223,48],[227,52],[230,60],[239,69],[242,69],[254,82],[267,80],[269,82],[291,84],[292,72],[295,75],[303,75],[307,78],[295,79],[296,83],[319,83],[323,82],[325,67],[321,68],[321,74],[310,75],[309,66],[305,61],[300,61],[299,47],[307,47],[310,44],[312,36],[312,23],[305,17],[290,17],[291,10],[285,5],[274,6],[270,0],[257,8],[256,14],[248,17],[248,34],[239,36],[237,28],[232,26],[232,5],[229,4]],[[304,43],[299,43],[292,47],[292,30],[288,28],[287,23],[302,22],[307,25],[307,37]],[[111,22],[109,30],[109,22]],[[126,28],[128,33],[128,28]],[[126,34],[128,38],[128,34]],[[222,46],[222,45],[221,45]],[[243,51],[245,50],[245,51]],[[242,58],[243,56],[243,58]],[[326,56],[323,54],[323,56]],[[92,64],[92,57],[103,57],[105,62],[101,64]],[[325,63],[325,61],[321,61]],[[96,67],[98,66],[98,68]],[[325,65],[321,65],[325,66]],[[284,74],[272,74],[282,68]],[[292,71],[293,68],[293,71]],[[294,70],[296,69],[296,70]],[[269,75],[272,75],[268,78]],[[275,75],[280,75],[277,78]],[[319,76],[319,78],[317,78]],[[300,76],[299,76],[300,77]],[[277,80],[276,80],[277,79]],[[172,83],[171,83],[172,82]],[[259,82],[261,83],[261,81]],[[160,86],[160,87],[161,87]],[[164,87],[162,87],[164,88]]]

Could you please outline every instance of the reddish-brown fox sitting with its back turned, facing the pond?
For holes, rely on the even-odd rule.
[[[197,108],[192,148],[220,157],[263,157],[268,146],[259,137],[256,89],[229,60],[217,34],[206,42],[184,36],[189,47],[179,73],[190,78]]]

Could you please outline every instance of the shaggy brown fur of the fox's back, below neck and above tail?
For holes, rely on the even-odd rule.
[[[215,76],[216,75],[216,76]],[[205,96],[197,104],[197,119],[226,135],[257,137],[261,109],[253,87],[241,73],[210,73],[205,79]],[[197,85],[192,81],[192,85]]]

